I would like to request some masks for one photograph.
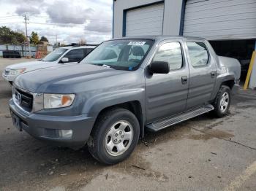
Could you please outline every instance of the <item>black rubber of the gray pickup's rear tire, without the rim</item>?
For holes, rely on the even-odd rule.
[[[229,109],[230,109],[231,93],[230,93],[230,88],[227,87],[227,86],[222,86],[222,88],[221,88],[219,91],[220,91],[220,93],[219,93],[219,95],[218,95],[217,102],[216,102],[216,104],[215,104],[215,106],[216,106],[215,110],[216,110],[216,113],[217,113],[217,116],[218,116],[218,117],[223,117],[223,116],[225,116],[225,115],[227,114],[227,112],[228,112]],[[225,110],[225,112],[222,112],[222,111],[220,110],[220,101],[221,101],[222,95],[223,95],[224,93],[227,93],[227,94],[228,94],[229,101],[228,101],[227,109]]]

